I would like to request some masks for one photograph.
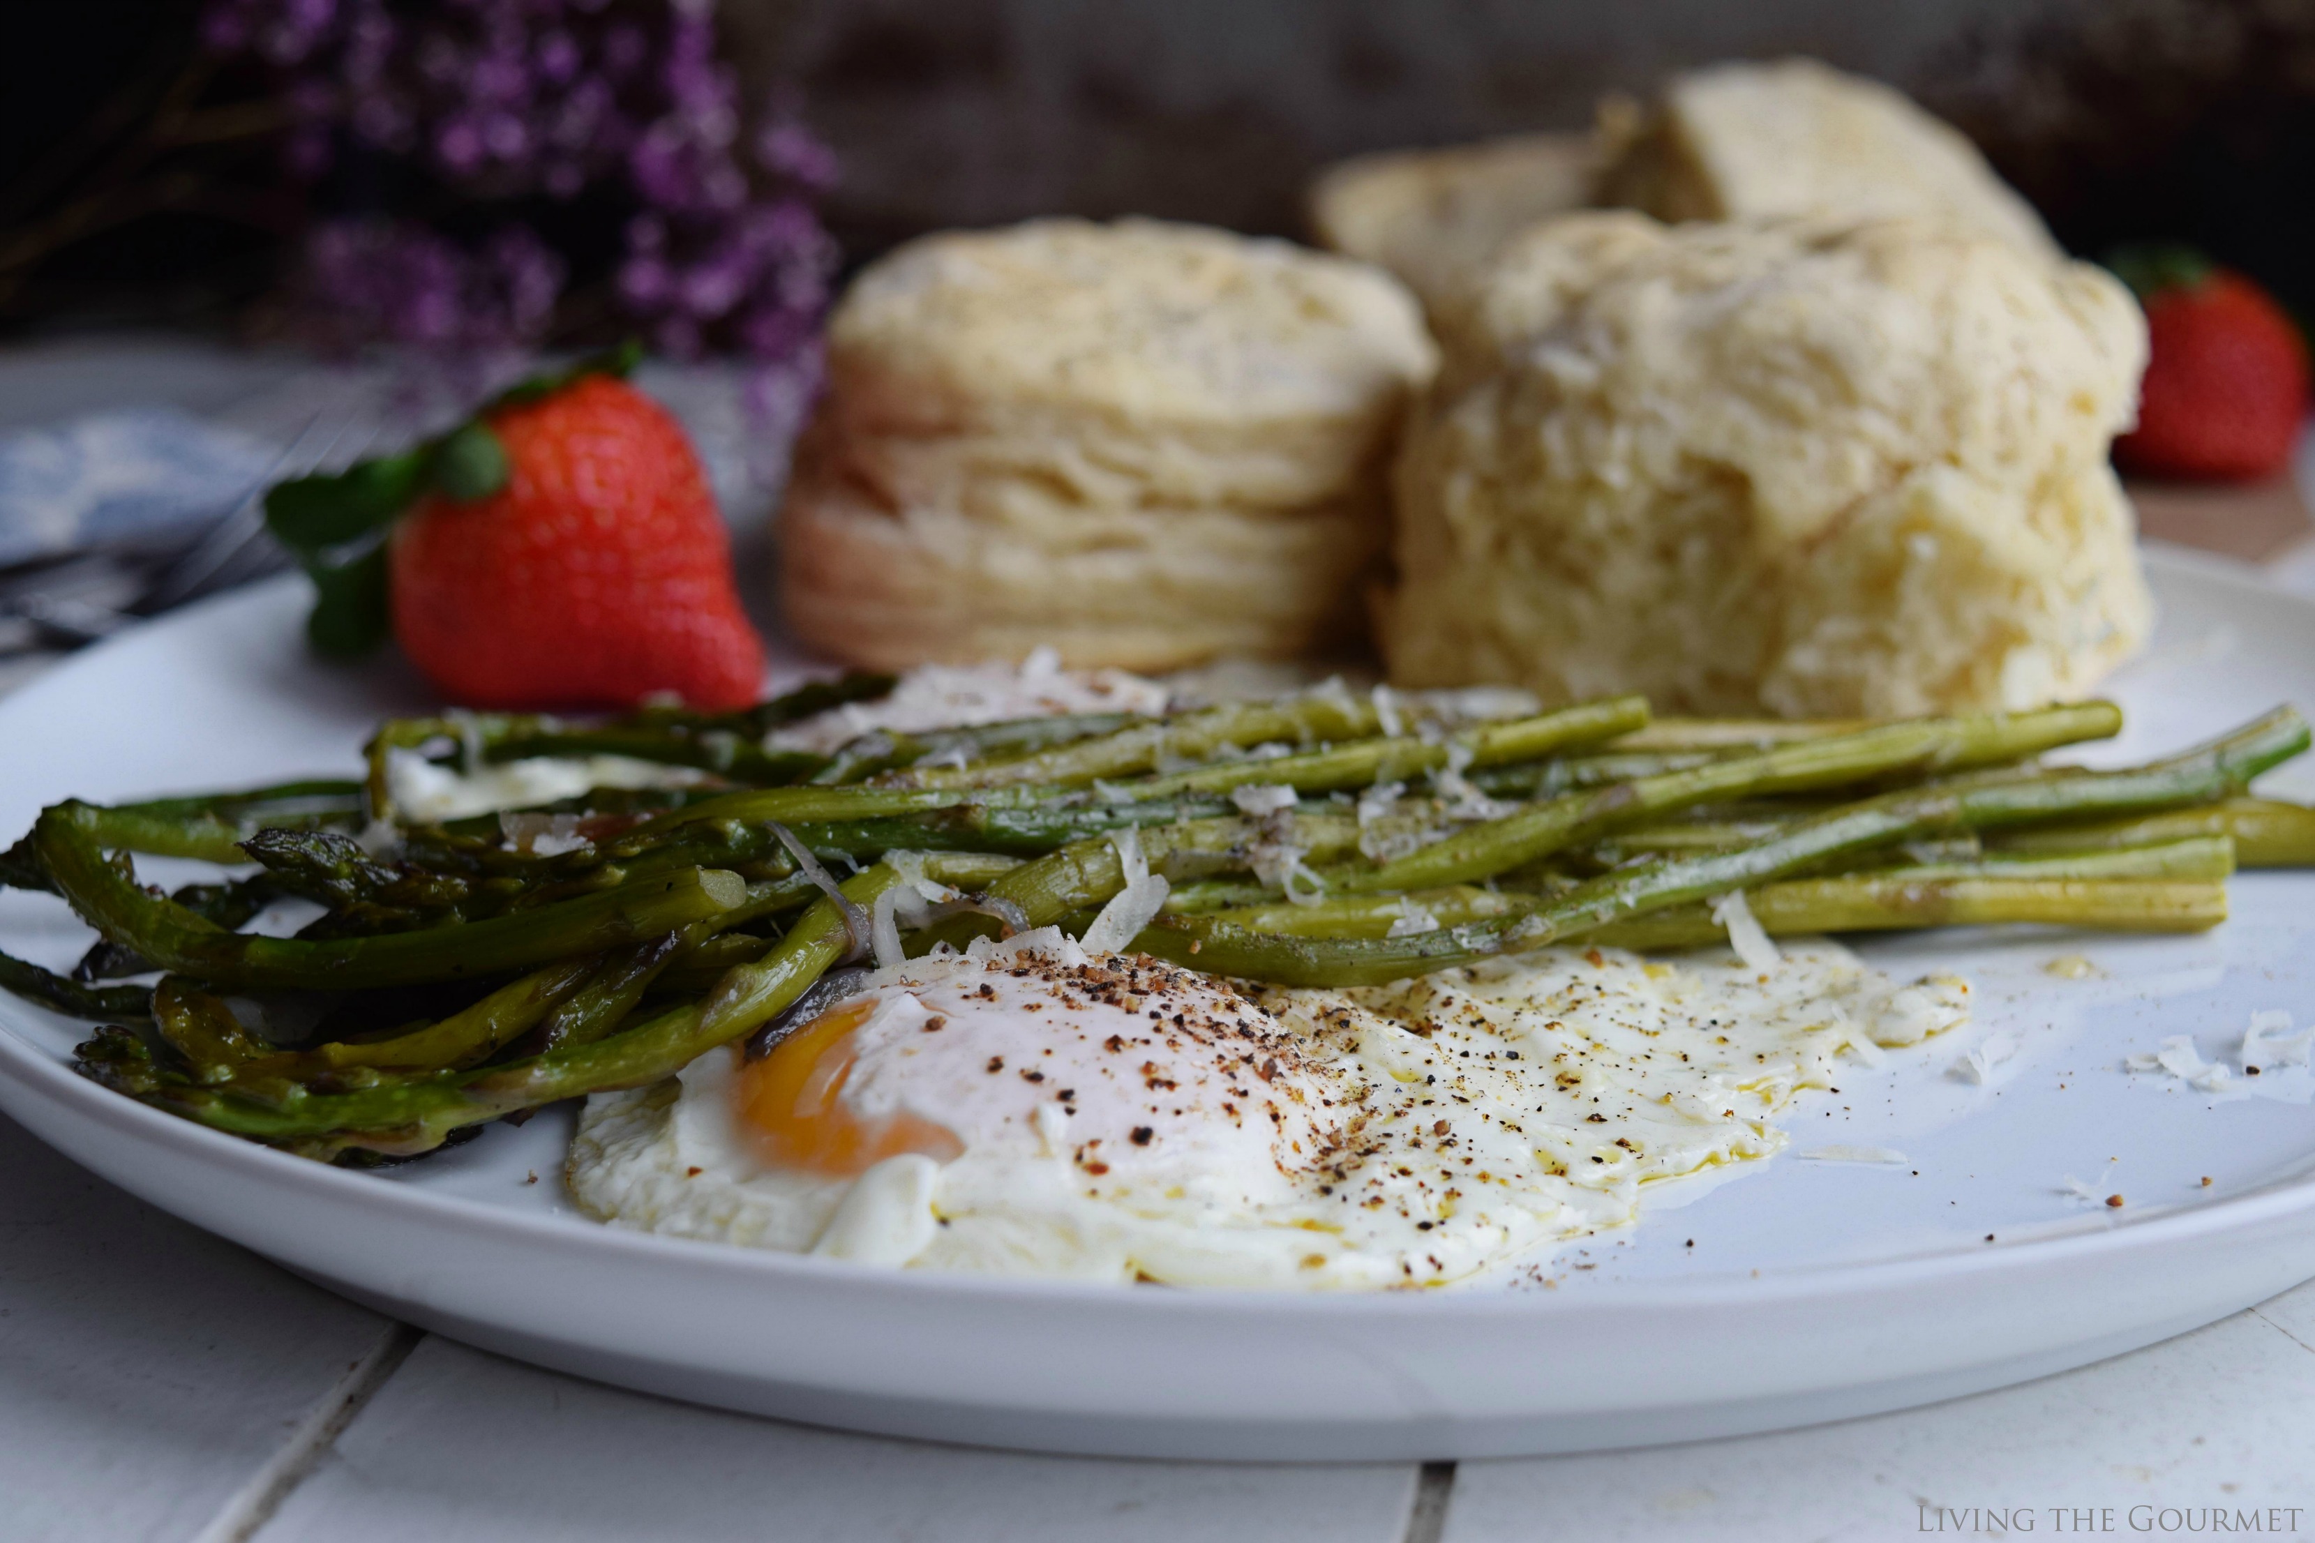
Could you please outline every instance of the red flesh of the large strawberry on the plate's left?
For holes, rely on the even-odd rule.
[[[394,636],[477,708],[757,699],[764,648],[683,428],[609,375],[479,419],[484,497],[426,493],[391,537]],[[468,435],[468,444],[454,442]],[[472,451],[475,430],[444,442]],[[458,486],[454,477],[435,481]]]

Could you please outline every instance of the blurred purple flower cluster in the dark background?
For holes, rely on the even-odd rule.
[[[611,192],[632,213],[604,278],[653,345],[745,354],[785,370],[766,403],[808,400],[836,162],[792,111],[748,123],[706,0],[211,0],[204,37],[278,74],[301,180],[384,160],[435,204]],[[299,291],[333,342],[458,349],[539,340],[563,282],[512,215],[456,248],[366,208],[313,231]]]

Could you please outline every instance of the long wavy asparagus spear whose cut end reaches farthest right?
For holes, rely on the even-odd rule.
[[[1160,916],[1134,946],[1215,974],[1283,985],[1368,985],[1539,948],[1646,911],[1783,879],[1831,858],[1947,830],[2060,817],[2137,814],[2241,793],[2255,775],[2308,747],[2308,724],[2278,708],[2234,733],[2153,766],[1924,787],[1866,798],[1734,851],[1655,858],[1542,902],[1528,916],[1380,942],[1250,932],[1213,916]]]

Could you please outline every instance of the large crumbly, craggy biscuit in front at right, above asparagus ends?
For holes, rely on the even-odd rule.
[[[2146,335],[2109,275],[1938,222],[1609,220],[1498,259],[1410,433],[1394,680],[1903,715],[2137,648],[2107,444]]]

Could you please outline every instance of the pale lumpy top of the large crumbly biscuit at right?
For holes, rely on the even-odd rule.
[[[1600,213],[1516,238],[1449,347],[1442,409],[1516,400],[1546,477],[1725,467],[1776,546],[1912,467],[2028,488],[2102,463],[2146,322],[2102,268],[1954,224]]]

